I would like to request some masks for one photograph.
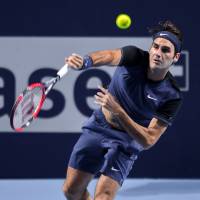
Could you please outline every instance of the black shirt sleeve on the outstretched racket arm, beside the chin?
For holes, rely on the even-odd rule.
[[[125,46],[121,48],[122,57],[119,66],[135,66],[141,64],[143,61],[148,60],[148,52],[143,51],[135,46]]]

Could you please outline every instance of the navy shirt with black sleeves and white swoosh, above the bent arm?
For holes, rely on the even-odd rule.
[[[148,79],[148,67],[148,52],[134,46],[123,47],[109,92],[138,124],[148,127],[155,117],[171,125],[181,105],[180,90],[170,72],[162,81]]]

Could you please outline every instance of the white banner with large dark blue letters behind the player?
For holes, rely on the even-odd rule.
[[[65,56],[72,53],[85,55],[92,51],[120,48],[126,45],[136,45],[148,50],[150,37],[1,37],[0,38],[0,132],[11,131],[9,124],[10,101],[15,98],[28,84],[38,81],[51,69],[58,70],[64,64]],[[180,67],[180,66],[179,66]],[[87,119],[87,112],[93,109],[94,98],[88,95],[92,89],[97,89],[102,80],[111,77],[115,67],[98,68],[101,71],[71,71],[58,83],[57,101],[48,98],[44,110],[54,106],[58,113],[52,117],[42,117],[36,120],[27,131],[31,132],[80,132],[82,123]],[[182,75],[182,71],[179,70]],[[97,73],[98,72],[98,73]],[[100,75],[99,75],[100,74]],[[102,78],[103,77],[103,78]],[[47,77],[46,77],[47,78]],[[82,82],[81,82],[82,81]],[[85,85],[84,85],[85,84]],[[77,91],[78,89],[81,91]],[[81,101],[86,99],[87,105]],[[58,106],[59,105],[59,106]],[[81,107],[86,106],[87,109]]]

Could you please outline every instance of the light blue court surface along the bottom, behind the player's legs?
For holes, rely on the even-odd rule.
[[[1,200],[65,200],[63,179],[0,180]],[[94,193],[97,180],[89,185]],[[116,200],[199,200],[200,180],[128,179]]]

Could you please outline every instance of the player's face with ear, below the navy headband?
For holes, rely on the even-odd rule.
[[[167,39],[156,38],[149,50],[151,69],[168,69],[173,62],[177,62],[180,55],[175,54],[174,45]]]

